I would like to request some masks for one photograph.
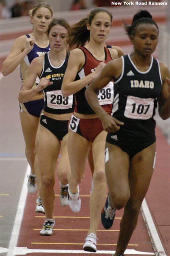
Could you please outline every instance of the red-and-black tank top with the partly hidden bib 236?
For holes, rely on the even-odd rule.
[[[85,55],[85,64],[82,67],[82,69],[77,73],[76,79],[79,80],[82,79],[85,76],[88,76],[92,72],[95,71],[95,68],[99,65],[100,62],[94,56],[91,54],[91,52],[88,51],[85,47],[79,47]],[[108,50],[108,48],[105,47],[105,63],[108,63],[112,60],[111,54]],[[79,90],[76,93],[76,106],[74,111],[77,113],[82,114],[95,114],[95,112],[91,109],[91,107],[88,105],[88,102],[85,99],[85,89],[88,86],[88,84]],[[104,88],[102,88],[99,91],[98,94],[99,103],[102,106],[102,108],[107,112],[111,113],[112,105],[113,105],[113,82],[109,82]]]

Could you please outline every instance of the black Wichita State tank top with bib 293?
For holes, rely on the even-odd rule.
[[[62,80],[68,64],[68,52],[66,58],[60,67],[53,67],[49,52],[45,53],[44,65],[40,79],[42,77],[49,78],[53,82],[52,85],[47,86],[44,90],[44,111],[52,114],[65,114],[74,112],[75,97],[70,95],[63,97],[61,92]]]

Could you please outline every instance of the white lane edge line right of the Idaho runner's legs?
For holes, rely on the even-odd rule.
[[[159,238],[158,232],[156,230],[155,224],[153,222],[153,218],[150,214],[149,208],[147,206],[146,199],[144,198],[142,202],[142,216],[147,225],[148,233],[150,235],[151,241],[153,243],[153,248],[155,250],[156,256],[167,256],[165,253],[164,247]]]

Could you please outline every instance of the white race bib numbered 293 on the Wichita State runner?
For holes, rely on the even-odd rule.
[[[61,90],[49,91],[46,93],[48,108],[68,109],[72,108],[73,95],[63,97]]]

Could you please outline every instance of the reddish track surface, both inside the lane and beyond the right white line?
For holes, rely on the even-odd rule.
[[[150,184],[150,189],[147,193],[147,203],[150,207],[153,220],[158,228],[161,240],[167,255],[169,248],[169,210],[164,211],[165,203],[169,205],[169,159],[168,152],[170,150],[161,131],[156,128],[157,135],[157,162],[156,169],[153,174],[153,179]],[[86,165],[85,178],[80,184],[80,196],[82,199],[82,208],[79,213],[74,213],[69,207],[61,207],[59,203],[59,181],[56,177],[55,184],[55,209],[54,216],[56,225],[52,236],[41,236],[39,231],[42,228],[45,216],[35,212],[36,194],[28,194],[26,200],[26,207],[23,215],[23,221],[20,229],[17,247],[28,247],[30,249],[46,249],[47,253],[28,253],[28,255],[41,256],[72,256],[82,255],[82,253],[48,253],[48,250],[82,250],[85,236],[89,229],[89,191],[91,187],[91,173],[89,171],[88,163]],[[164,192],[162,193],[162,188]],[[164,200],[166,202],[164,202]],[[164,212],[164,215],[162,215]],[[113,227],[110,230],[105,230],[100,223],[98,228],[98,250],[115,250],[116,241],[118,238],[119,224],[123,211],[116,212],[116,218]],[[161,232],[161,233],[160,233]],[[130,239],[127,249],[134,249],[137,251],[153,253],[153,246],[151,244],[147,228],[144,224],[142,215],[139,215],[138,225]],[[94,255],[94,253],[87,253],[83,255]],[[101,255],[95,253],[95,255]],[[106,254],[102,254],[106,255]],[[127,255],[127,254],[126,254]],[[130,255],[130,254],[129,254]],[[141,254],[142,255],[142,254]]]

